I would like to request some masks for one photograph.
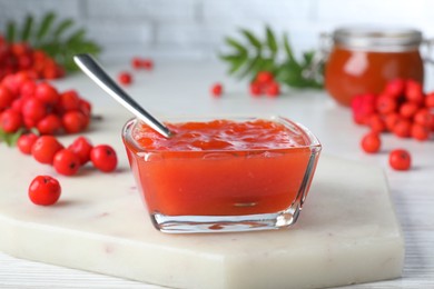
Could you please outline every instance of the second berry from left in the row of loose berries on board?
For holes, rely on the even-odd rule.
[[[31,155],[41,162],[52,165],[56,152],[63,149],[63,146],[53,136],[39,137],[31,147]]]

